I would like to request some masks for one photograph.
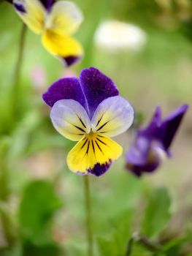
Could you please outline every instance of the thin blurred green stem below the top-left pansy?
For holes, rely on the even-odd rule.
[[[15,64],[15,71],[13,75],[13,88],[12,88],[12,110],[13,113],[17,111],[17,103],[18,103],[18,91],[20,87],[20,74],[21,68],[23,64],[23,52],[26,41],[26,25],[23,23],[22,29],[20,31],[20,40],[18,45],[18,57]]]

